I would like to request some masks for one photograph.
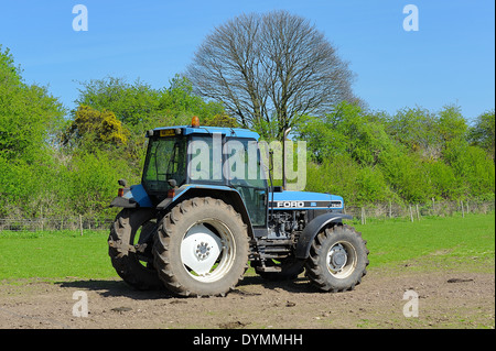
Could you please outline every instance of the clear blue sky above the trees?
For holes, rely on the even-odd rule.
[[[86,32],[73,30],[78,3],[88,10]],[[403,30],[410,3],[419,31]],[[454,103],[472,120],[495,107],[493,0],[0,0],[0,44],[26,83],[47,85],[72,109],[77,81],[110,75],[168,87],[216,25],[279,9],[326,35],[356,74],[355,94],[374,110]]]

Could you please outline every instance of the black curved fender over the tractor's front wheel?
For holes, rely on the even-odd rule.
[[[300,234],[296,242],[296,248],[294,250],[294,255],[296,259],[306,259],[310,255],[310,246],[312,245],[315,237],[324,229],[326,226],[333,222],[341,222],[343,219],[353,219],[349,215],[343,213],[324,213],[315,217]]]

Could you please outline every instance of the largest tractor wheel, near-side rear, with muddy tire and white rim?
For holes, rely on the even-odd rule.
[[[176,205],[161,221],[154,266],[180,296],[225,296],[248,268],[248,232],[241,216],[219,199]]]

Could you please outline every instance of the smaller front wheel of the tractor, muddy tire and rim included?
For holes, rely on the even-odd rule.
[[[324,292],[353,290],[367,273],[368,250],[353,227],[337,223],[320,232],[310,249],[305,275]]]

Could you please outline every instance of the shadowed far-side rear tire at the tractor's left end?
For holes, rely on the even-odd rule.
[[[163,288],[152,264],[155,220],[151,209],[125,208],[117,215],[108,237],[108,254],[114,268],[128,285],[139,290]]]

